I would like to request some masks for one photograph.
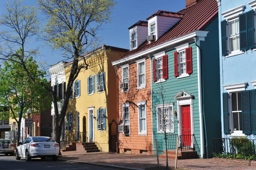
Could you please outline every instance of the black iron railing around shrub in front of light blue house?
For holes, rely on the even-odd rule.
[[[248,138],[215,138],[213,139],[213,153],[217,157],[256,160],[256,140]]]

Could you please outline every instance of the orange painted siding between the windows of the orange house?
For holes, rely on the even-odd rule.
[[[148,154],[153,155],[152,137],[152,115],[151,115],[151,70],[150,59],[146,58],[146,89],[137,90],[137,63],[129,64],[129,91],[122,93],[120,83],[122,83],[122,69],[118,68],[118,114],[119,125],[123,124],[123,103],[130,103],[130,136],[119,132],[120,153],[126,149],[131,149],[132,154],[141,153],[140,150],[147,150]],[[138,135],[138,106],[137,101],[146,100],[146,122],[147,135]]]

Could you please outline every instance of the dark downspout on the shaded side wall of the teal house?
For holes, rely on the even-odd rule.
[[[202,97],[202,114],[203,114],[203,122],[204,122],[204,128],[205,128],[205,152],[206,152],[206,156],[207,158],[209,157],[208,156],[208,150],[207,150],[207,131],[206,131],[206,125],[205,125],[205,112],[204,112],[204,105],[203,105],[203,71],[202,71],[202,49],[200,48],[200,46],[197,44],[197,36],[195,37],[195,45],[199,48],[200,50],[200,61],[201,61],[201,64],[200,64],[200,67],[201,67],[201,91],[202,91],[202,94],[201,94],[201,97]]]

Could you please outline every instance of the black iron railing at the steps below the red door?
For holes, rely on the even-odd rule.
[[[182,150],[194,150],[200,155],[200,148],[197,144],[194,134],[189,135],[178,135],[178,134],[167,134],[167,149],[174,150],[177,148],[177,138],[179,137],[178,147]]]

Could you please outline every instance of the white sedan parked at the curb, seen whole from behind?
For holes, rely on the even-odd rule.
[[[19,143],[16,149],[16,160],[20,160],[20,157],[25,157],[26,161],[35,157],[41,157],[41,159],[52,157],[53,160],[57,160],[58,155],[59,144],[51,137],[28,137],[23,143]]]

